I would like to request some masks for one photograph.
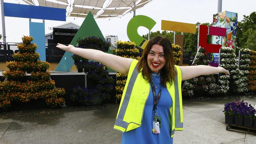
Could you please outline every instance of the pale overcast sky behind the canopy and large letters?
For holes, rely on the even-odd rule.
[[[21,0],[4,0],[9,3],[22,4]],[[149,4],[136,10],[136,15],[146,15],[156,21],[151,31],[161,30],[161,20],[171,20],[195,24],[197,22],[212,22],[213,14],[217,13],[218,0],[152,0]],[[223,0],[222,11],[238,13],[238,21],[243,15],[250,15],[256,11],[255,0]],[[96,18],[96,22],[103,35],[117,35],[121,41],[129,41],[126,34],[126,27],[133,13],[124,15],[121,18]],[[50,27],[58,26],[67,22],[74,22],[81,25],[84,18],[67,17],[67,21],[45,20],[45,33],[50,33]],[[42,20],[32,19],[32,22]],[[1,21],[2,33],[2,21]],[[5,17],[6,41],[20,42],[22,35],[29,35],[29,19]],[[140,35],[148,33],[148,30],[139,27]],[[1,40],[2,41],[2,40]]]

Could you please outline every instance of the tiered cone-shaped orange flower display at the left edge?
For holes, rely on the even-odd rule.
[[[46,70],[50,64],[37,61],[39,54],[35,52],[37,45],[31,43],[32,37],[22,37],[23,44],[19,44],[18,53],[13,55],[15,61],[7,62],[10,70],[2,72],[7,81],[0,82],[0,108],[11,106],[11,101],[29,102],[34,99],[44,98],[50,107],[61,106],[65,100],[60,98],[65,94],[65,89],[55,88],[55,82],[50,80],[50,72]],[[31,72],[30,79],[24,82],[26,71]]]

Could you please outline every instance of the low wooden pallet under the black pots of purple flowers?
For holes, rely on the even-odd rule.
[[[251,135],[256,135],[256,128],[255,127],[244,127],[244,126],[236,126],[236,125],[226,125],[227,131],[235,131],[238,133],[247,133]]]

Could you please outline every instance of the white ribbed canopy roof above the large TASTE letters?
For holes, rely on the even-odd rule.
[[[152,0],[23,0],[29,5],[66,9],[67,17],[86,17],[91,11],[95,18],[121,17],[141,8]]]

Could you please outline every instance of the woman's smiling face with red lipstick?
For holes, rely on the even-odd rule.
[[[147,58],[148,66],[151,72],[158,73],[165,65],[165,58],[163,53],[163,46],[153,44]]]

